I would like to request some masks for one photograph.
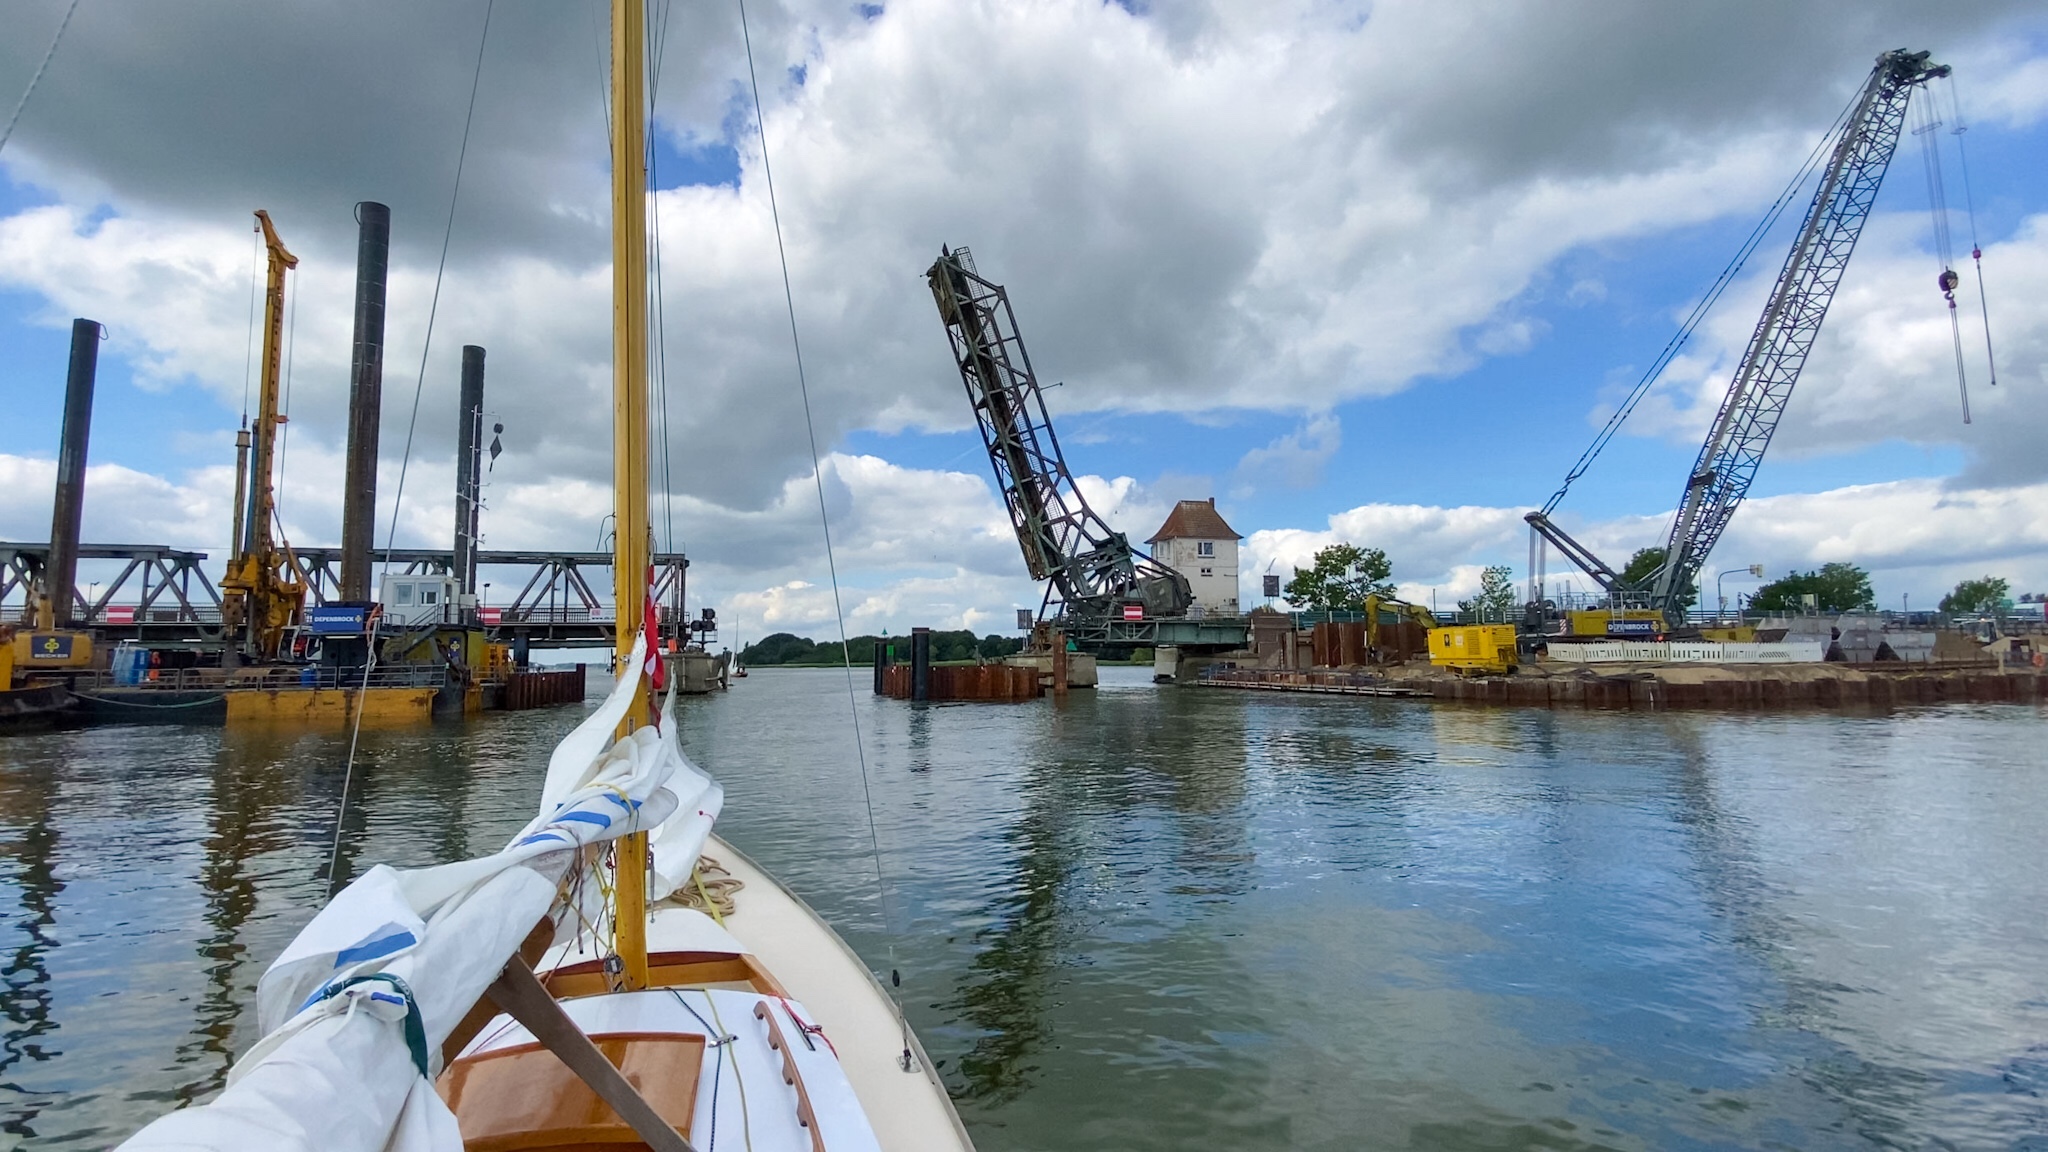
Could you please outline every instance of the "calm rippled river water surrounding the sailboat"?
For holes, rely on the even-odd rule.
[[[721,832],[899,968],[1006,1148],[2048,1148],[2048,713],[1065,707],[764,670]],[[365,732],[348,867],[496,849],[573,709]],[[205,1099],[311,914],[340,736],[0,740],[0,1144]],[[741,896],[743,898],[743,896]]]

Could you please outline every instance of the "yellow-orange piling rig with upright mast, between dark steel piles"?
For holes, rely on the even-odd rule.
[[[264,662],[281,656],[285,633],[305,611],[305,572],[285,541],[276,523],[276,430],[287,416],[279,412],[279,367],[285,334],[285,273],[299,258],[285,250],[270,213],[256,211],[270,254],[262,312],[262,387],[256,400],[256,426],[236,435],[236,527],[229,545],[227,574],[221,580],[223,662],[236,656]],[[250,441],[254,433],[254,459]]]

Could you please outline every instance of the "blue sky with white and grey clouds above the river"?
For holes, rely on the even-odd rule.
[[[0,12],[0,111],[66,6]],[[760,119],[737,6],[657,12],[653,517],[727,635],[836,631],[819,492],[848,631],[1008,631],[1038,605],[924,285],[942,244],[1008,285],[1067,461],[1135,539],[1212,496],[1245,537],[1247,603],[1333,541],[1382,547],[1421,603],[1470,594],[1489,564],[1526,578],[1522,515],[1894,47],[1954,66],[1915,96],[1937,127],[1901,141],[1702,578],[1729,572],[1733,596],[1751,564],[1839,560],[1884,607],[1980,574],[2048,590],[2038,4],[756,0]],[[352,205],[375,199],[393,217],[379,543],[449,545],[461,346],[481,344],[506,426],[483,545],[596,547],[604,20],[594,0],[82,0],[0,150],[0,539],[49,535],[84,316],[106,326],[86,539],[219,564],[262,207],[301,258],[283,523],[334,545]],[[1798,207],[1559,506],[1610,562],[1663,541]]]

